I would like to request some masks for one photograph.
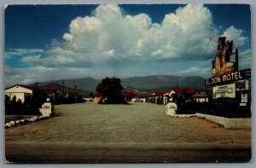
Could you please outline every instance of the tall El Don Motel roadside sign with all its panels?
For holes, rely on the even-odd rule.
[[[218,52],[212,60],[212,78],[205,80],[212,87],[212,99],[229,98],[238,107],[251,107],[251,69],[239,70],[238,49],[233,52],[233,42],[218,38]],[[235,55],[235,61],[230,56]]]

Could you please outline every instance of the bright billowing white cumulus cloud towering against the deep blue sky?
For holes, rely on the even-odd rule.
[[[115,59],[201,59],[215,49],[218,36],[212,30],[212,15],[201,4],[166,14],[161,24],[152,23],[148,14],[123,15],[119,6],[108,4],[100,5],[94,16],[74,19],[63,38],[65,49],[90,53],[90,60],[108,60],[112,49]]]

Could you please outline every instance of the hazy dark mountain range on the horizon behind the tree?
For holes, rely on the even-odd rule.
[[[152,92],[155,90],[168,91],[172,88],[178,87],[194,87],[197,89],[205,89],[205,79],[197,76],[191,77],[177,77],[177,76],[147,76],[147,77],[134,77],[122,78],[122,85],[125,90],[137,90],[139,92]],[[71,90],[77,87],[77,90],[96,91],[96,86],[102,80],[95,78],[75,78],[65,79],[64,86]],[[63,80],[52,80],[49,82],[39,83],[38,86],[47,86],[48,84],[58,84],[62,88]],[[32,84],[30,84],[32,85]],[[62,90],[62,89],[61,89]]]

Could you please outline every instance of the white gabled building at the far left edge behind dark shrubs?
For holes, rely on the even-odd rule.
[[[26,86],[23,84],[15,84],[14,86],[10,86],[6,88],[4,94],[10,96],[12,99],[16,96],[16,100],[19,100],[22,103],[31,103],[32,102],[32,95],[33,95],[34,88],[31,86]]]

